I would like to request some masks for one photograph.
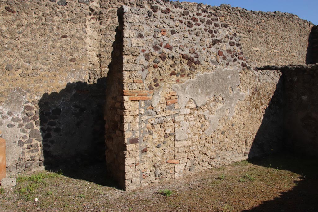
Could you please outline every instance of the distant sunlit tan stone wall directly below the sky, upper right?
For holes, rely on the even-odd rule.
[[[212,8],[241,37],[249,63],[305,65],[312,23],[279,11],[248,11],[229,5]]]

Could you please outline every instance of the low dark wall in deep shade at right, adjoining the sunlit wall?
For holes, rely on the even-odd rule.
[[[283,73],[284,145],[295,154],[318,154],[318,65],[267,66]]]

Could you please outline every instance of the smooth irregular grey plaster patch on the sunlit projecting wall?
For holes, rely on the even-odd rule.
[[[240,92],[238,85],[238,69],[218,67],[215,73],[201,74],[196,79],[173,85],[172,89],[178,94],[178,104],[181,108],[185,107],[189,99],[193,99],[197,107],[200,107],[214,95],[223,97],[225,103],[215,110],[214,115],[208,110],[204,112],[205,119],[210,122],[209,128],[205,131],[205,134],[209,135],[218,127],[219,119],[225,115],[231,118],[237,101],[244,100],[245,94]]]

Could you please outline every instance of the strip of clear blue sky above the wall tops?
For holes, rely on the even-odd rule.
[[[187,0],[187,2],[204,3],[219,6],[231,4],[246,10],[281,11],[297,15],[302,19],[318,24],[318,0]]]

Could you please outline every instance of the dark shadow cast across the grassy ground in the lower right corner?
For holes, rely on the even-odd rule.
[[[283,157],[282,157],[283,155]],[[288,170],[302,175],[295,179],[296,186],[283,192],[279,198],[263,202],[259,206],[244,212],[286,211],[317,212],[318,211],[318,161],[314,158],[298,158],[294,154],[281,153],[265,159],[251,159],[253,164]],[[288,176],[289,177],[289,176]],[[290,176],[292,177],[292,176]],[[257,197],[256,197],[257,198]]]

